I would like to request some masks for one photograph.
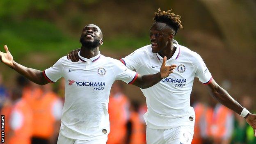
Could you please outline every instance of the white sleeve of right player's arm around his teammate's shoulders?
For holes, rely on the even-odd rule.
[[[143,50],[142,48],[135,50],[130,55],[121,58],[121,62],[127,66],[128,69],[137,70],[142,65]]]

